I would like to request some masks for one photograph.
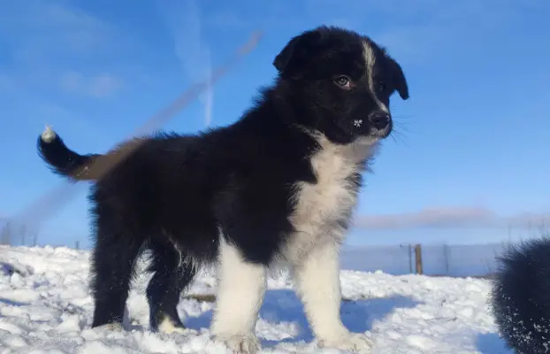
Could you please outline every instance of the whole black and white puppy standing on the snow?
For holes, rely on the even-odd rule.
[[[197,269],[218,265],[212,333],[256,352],[266,270],[289,265],[319,345],[369,351],[340,320],[339,248],[381,139],[390,96],[409,97],[401,66],[370,38],[338,27],[294,37],[278,76],[227,127],[156,134],[105,155],[79,155],[51,129],[38,148],[54,172],[95,181],[80,167],[141,145],[91,192],[93,327],[122,320],[134,260],[151,250],[150,326],[180,331],[180,293]],[[79,171],[79,173],[76,173]]]

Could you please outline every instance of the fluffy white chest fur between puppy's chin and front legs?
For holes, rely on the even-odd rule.
[[[346,229],[341,221],[353,212],[358,190],[351,178],[360,173],[360,162],[370,156],[375,142],[334,144],[316,136],[321,149],[310,157],[317,183],[294,185],[295,210],[289,220],[296,232],[288,240],[284,258],[294,263],[317,242],[342,242]]]

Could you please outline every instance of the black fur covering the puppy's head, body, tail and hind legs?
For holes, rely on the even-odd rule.
[[[144,248],[152,250],[150,270],[156,272],[147,289],[152,327],[166,316],[181,326],[175,310],[180,291],[195,266],[216,260],[220,229],[249,262],[271,264],[294,231],[288,220],[294,184],[317,181],[309,157],[320,146],[310,133],[348,144],[391,132],[390,126],[380,133],[369,121],[379,107],[366,84],[363,41],[376,55],[377,82],[385,83],[377,92],[380,101],[389,106],[394,91],[408,98],[401,67],[385,50],[355,32],[318,27],[292,39],[275,58],[279,76],[241,119],[197,135],[138,138],[141,146],[96,181],[90,196],[93,327],[122,319],[134,260]],[[354,89],[334,83],[342,74]],[[355,127],[354,119],[363,125]],[[39,150],[55,172],[73,180],[87,179],[75,176],[75,169],[104,157],[80,156],[59,137],[40,139]],[[350,178],[356,191],[361,177]]]

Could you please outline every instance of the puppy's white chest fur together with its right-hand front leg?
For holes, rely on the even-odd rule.
[[[339,221],[351,216],[357,202],[348,178],[362,172],[361,163],[375,152],[378,139],[341,145],[314,136],[321,146],[310,157],[317,183],[294,186],[296,207],[289,219],[297,231],[283,256],[294,266],[298,294],[319,344],[369,352],[370,341],[349,333],[340,320],[339,248],[347,230]]]

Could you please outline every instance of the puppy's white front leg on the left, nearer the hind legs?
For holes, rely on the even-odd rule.
[[[238,353],[260,350],[254,329],[267,287],[266,269],[246,262],[233,245],[221,242],[218,299],[212,333]]]

